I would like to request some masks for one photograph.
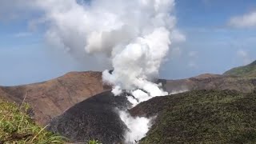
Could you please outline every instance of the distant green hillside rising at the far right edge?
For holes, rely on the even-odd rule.
[[[256,76],[256,61],[250,63],[247,66],[240,66],[234,69],[228,70],[224,73],[225,75],[235,75],[235,76],[246,76],[255,77]]]

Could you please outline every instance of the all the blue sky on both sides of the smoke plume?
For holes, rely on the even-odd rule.
[[[175,9],[178,29],[186,41],[170,50],[162,78],[222,74],[256,59],[256,25],[229,25],[230,18],[256,11],[256,1],[177,0]],[[5,13],[0,10],[1,86],[42,82],[69,71],[88,70],[69,54],[46,45],[46,25],[30,26],[38,12],[24,12],[18,18],[2,16]]]

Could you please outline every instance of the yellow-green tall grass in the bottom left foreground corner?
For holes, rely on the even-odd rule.
[[[27,111],[26,103],[16,103],[0,99],[0,143],[64,143],[66,138],[46,131],[46,127],[37,126]]]

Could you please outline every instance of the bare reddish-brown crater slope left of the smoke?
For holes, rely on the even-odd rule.
[[[36,122],[46,125],[50,119],[94,94],[110,90],[102,85],[101,72],[71,72],[47,82],[24,86],[0,86],[0,97],[30,104]]]

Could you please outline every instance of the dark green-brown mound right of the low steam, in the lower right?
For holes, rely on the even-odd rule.
[[[255,93],[230,90],[195,90],[152,99],[142,108],[161,112],[140,143],[256,143],[255,104]]]

